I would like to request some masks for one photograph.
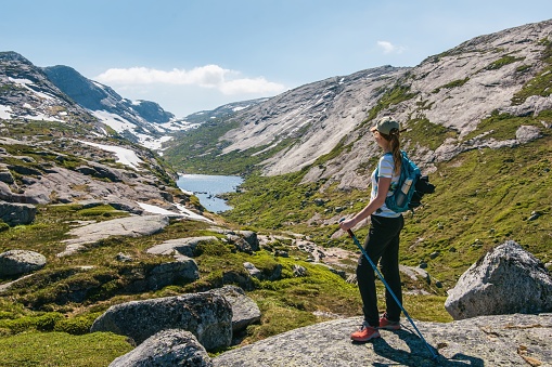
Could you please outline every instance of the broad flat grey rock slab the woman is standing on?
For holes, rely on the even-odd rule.
[[[291,330],[213,358],[220,367],[287,366],[550,366],[552,314],[482,316],[452,323],[414,320],[432,353],[403,320],[398,331],[352,343],[360,317]]]

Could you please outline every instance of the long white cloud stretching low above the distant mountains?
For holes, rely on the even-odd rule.
[[[191,70],[172,69],[170,71],[146,67],[111,68],[95,77],[106,84],[175,84],[197,86],[217,89],[227,95],[241,93],[280,93],[284,86],[266,80],[262,77],[240,78],[240,73],[224,69],[218,65],[205,65]]]

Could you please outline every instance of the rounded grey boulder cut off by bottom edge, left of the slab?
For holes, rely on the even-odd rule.
[[[110,367],[153,366],[210,367],[213,362],[193,333],[170,329],[147,338],[110,364]]]

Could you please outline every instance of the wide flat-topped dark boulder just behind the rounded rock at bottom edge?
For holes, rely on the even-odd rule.
[[[138,344],[166,329],[192,332],[210,351],[232,341],[232,307],[221,296],[191,293],[111,306],[90,329],[132,338]]]

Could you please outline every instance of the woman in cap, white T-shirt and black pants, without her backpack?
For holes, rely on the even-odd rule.
[[[385,280],[402,304],[399,275],[399,235],[405,221],[401,213],[396,213],[385,206],[385,198],[397,188],[400,176],[400,127],[399,122],[389,117],[384,117],[377,121],[371,131],[384,155],[377,162],[377,170],[372,172],[370,202],[351,219],[342,221],[339,226],[343,231],[347,231],[370,217],[371,224],[364,249],[374,264],[380,261],[380,268]],[[377,178],[375,176],[376,171],[378,172]],[[400,329],[401,309],[387,291],[387,288],[385,290],[386,312],[380,317],[374,270],[362,254],[357,266],[357,281],[362,298],[364,322],[359,330],[350,335],[350,338],[354,341],[365,342],[380,338],[378,328]]]

